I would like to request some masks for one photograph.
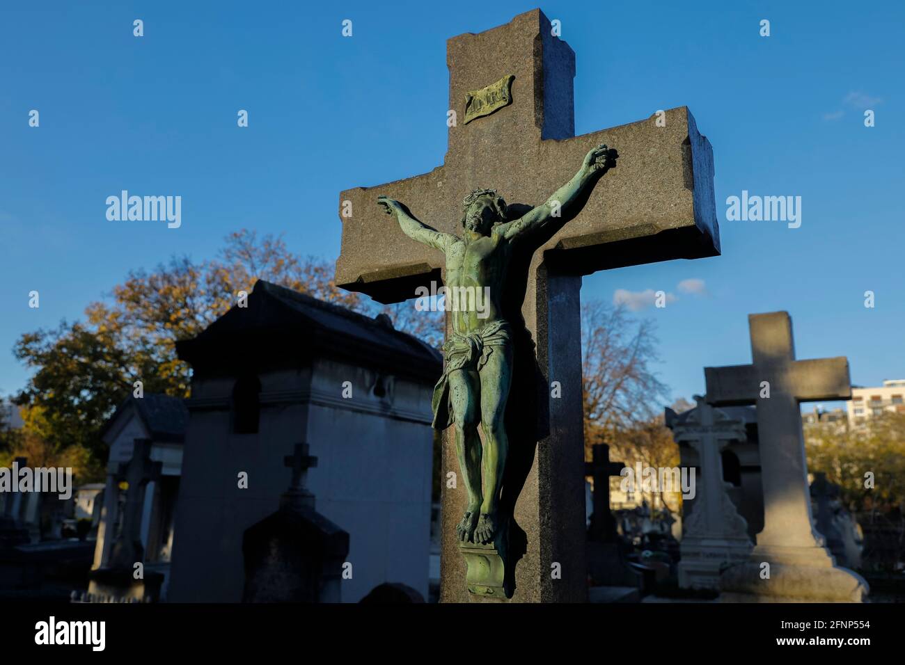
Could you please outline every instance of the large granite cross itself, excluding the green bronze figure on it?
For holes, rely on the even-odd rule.
[[[438,122],[448,119],[443,166],[339,195],[336,283],[390,303],[443,282],[443,254],[405,238],[377,205],[378,195],[404,201],[439,231],[459,234],[462,198],[472,190],[496,188],[511,209],[527,211],[567,182],[590,148],[606,143],[618,150],[618,166],[596,185],[582,212],[512,257],[506,292],[514,304],[503,312],[513,327],[514,365],[500,510],[514,515],[510,546],[522,555],[511,599],[584,601],[585,551],[575,546],[586,537],[581,277],[719,254],[710,142],[684,107],[576,137],[575,52],[553,36],[539,10],[452,38],[446,60],[450,112],[427,109]],[[397,90],[395,102],[409,103],[408,92]],[[599,109],[598,116],[605,115]],[[405,153],[405,146],[386,143],[378,149],[387,159]],[[451,471],[458,475],[458,464],[451,432],[444,441],[446,478]],[[465,501],[461,482],[443,490],[443,602],[471,600],[456,536]],[[551,575],[553,568],[558,575]]]

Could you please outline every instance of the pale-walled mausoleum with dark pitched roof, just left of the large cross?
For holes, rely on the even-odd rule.
[[[193,377],[168,600],[242,600],[243,534],[280,506],[300,443],[318,512],[349,535],[342,601],[385,582],[427,596],[433,347],[259,280],[177,350]]]

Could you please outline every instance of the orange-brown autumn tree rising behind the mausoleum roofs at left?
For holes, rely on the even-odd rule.
[[[26,429],[48,451],[104,460],[100,429],[142,382],[145,392],[186,397],[190,368],[176,357],[176,341],[195,337],[251,293],[257,280],[307,293],[368,316],[384,312],[397,328],[433,341],[443,319],[415,312],[413,302],[381,306],[340,290],[333,266],[300,258],[281,237],[239,231],[226,237],[217,255],[204,262],[173,257],[153,271],[131,271],[107,298],[91,302],[82,321],[25,333],[16,356],[33,370],[16,402],[31,413]],[[50,454],[50,453],[49,453]]]

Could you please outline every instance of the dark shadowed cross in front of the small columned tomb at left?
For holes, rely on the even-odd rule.
[[[162,463],[151,461],[150,439],[136,439],[132,459],[119,465],[117,480],[125,480],[126,505],[122,509],[122,527],[110,556],[111,568],[131,568],[144,562],[145,548],[141,545],[141,513],[145,504],[145,489],[149,482],[160,480]]]

